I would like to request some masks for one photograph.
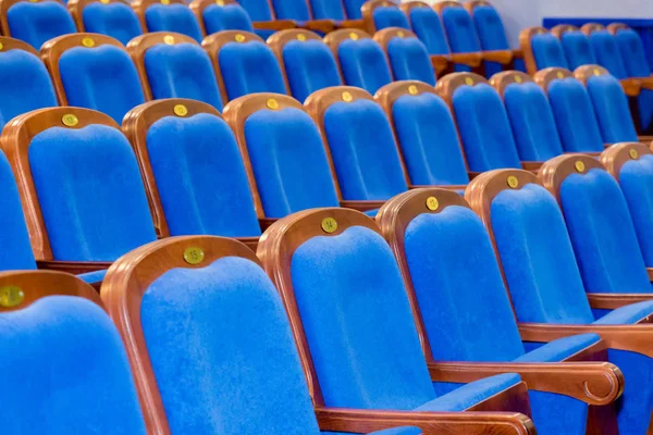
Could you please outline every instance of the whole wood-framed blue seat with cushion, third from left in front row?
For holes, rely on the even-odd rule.
[[[445,412],[452,425],[432,433],[468,435],[492,433],[496,420],[479,425],[459,411],[529,412],[514,373],[436,390],[434,383],[448,381],[429,371],[392,250],[366,215],[320,209],[286,216],[266,232],[258,254],[282,295],[318,406]],[[534,431],[523,415],[510,420],[510,433]]]

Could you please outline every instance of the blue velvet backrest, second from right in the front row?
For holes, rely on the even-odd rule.
[[[617,181],[592,169],[560,185],[560,203],[589,293],[650,293],[634,226]]]

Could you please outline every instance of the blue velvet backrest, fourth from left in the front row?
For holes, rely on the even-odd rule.
[[[475,212],[454,206],[419,214],[404,244],[434,360],[512,361],[523,355],[490,237]]]

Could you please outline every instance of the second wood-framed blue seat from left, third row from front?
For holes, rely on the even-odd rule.
[[[119,40],[99,34],[73,34],[50,39],[41,55],[62,105],[94,109],[121,123],[143,103],[136,66]]]

